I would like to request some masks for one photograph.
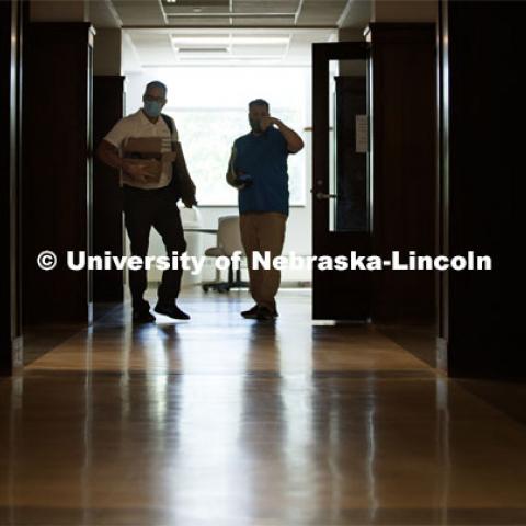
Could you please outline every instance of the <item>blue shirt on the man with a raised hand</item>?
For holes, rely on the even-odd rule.
[[[288,147],[274,126],[235,141],[236,172],[252,176],[252,184],[239,191],[239,213],[278,211],[288,216]]]

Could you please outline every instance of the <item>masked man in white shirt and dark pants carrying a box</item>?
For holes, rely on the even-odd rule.
[[[98,157],[104,163],[121,170],[123,209],[132,255],[148,254],[150,229],[153,227],[162,237],[167,254],[179,254],[186,250],[183,227],[176,202],[182,198],[191,208],[196,205],[195,185],[190,178],[179,141],[175,123],[162,114],[167,103],[167,87],[159,81],[147,84],[142,95],[144,106],[118,121],[101,141]],[[123,158],[123,148],[129,139],[161,139],[161,159],[158,164],[160,176],[151,175],[144,164]],[[187,320],[190,316],[176,305],[181,287],[182,270],[163,272],[158,288],[155,311],[173,319]],[[144,298],[147,288],[146,270],[129,270],[129,288],[135,322],[155,321],[150,305]]]

